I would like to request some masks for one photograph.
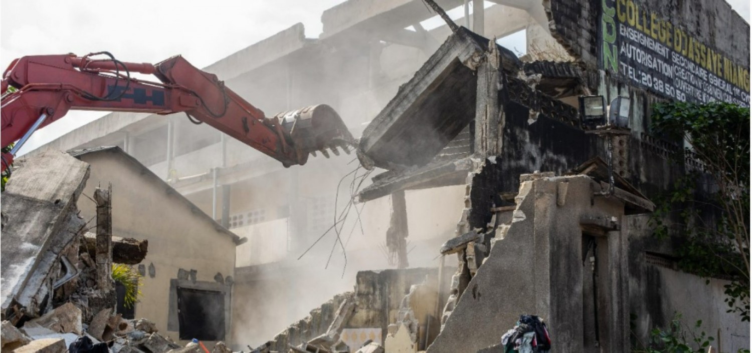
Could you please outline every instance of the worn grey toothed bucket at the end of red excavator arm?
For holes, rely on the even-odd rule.
[[[329,152],[339,155],[340,150],[350,154],[355,148],[355,139],[332,107],[326,104],[313,105],[299,110],[278,113],[282,127],[290,134],[300,164],[305,164],[308,155],[320,152],[329,158]]]

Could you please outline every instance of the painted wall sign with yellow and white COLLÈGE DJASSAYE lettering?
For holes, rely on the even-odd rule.
[[[749,107],[749,68],[643,4],[600,3],[600,68],[677,101],[726,101]]]

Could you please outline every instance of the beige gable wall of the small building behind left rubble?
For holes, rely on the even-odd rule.
[[[191,210],[155,177],[141,175],[123,155],[103,151],[81,159],[91,164],[84,195],[92,197],[97,186],[112,184],[113,234],[149,240],[149,251],[142,262],[147,275],[141,288],[143,296],[136,304],[136,318],[150,319],[160,333],[177,341],[178,333],[167,330],[170,279],[177,278],[180,268],[197,270],[197,281],[214,282],[217,272],[232,276],[235,243],[216,230],[218,225],[200,216],[198,208]],[[85,196],[79,199],[78,207],[86,220],[96,214],[95,204]],[[156,269],[154,278],[148,274],[150,264]]]

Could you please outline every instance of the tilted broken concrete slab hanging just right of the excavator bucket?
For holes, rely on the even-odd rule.
[[[463,27],[447,38],[363,131],[364,164],[420,166],[447,146],[475,118],[476,69],[489,42]],[[514,53],[496,47],[505,70],[522,68]]]

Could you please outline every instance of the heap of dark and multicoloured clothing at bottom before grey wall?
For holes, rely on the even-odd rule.
[[[520,315],[513,329],[502,336],[505,353],[544,353],[551,348],[551,338],[543,319]]]

